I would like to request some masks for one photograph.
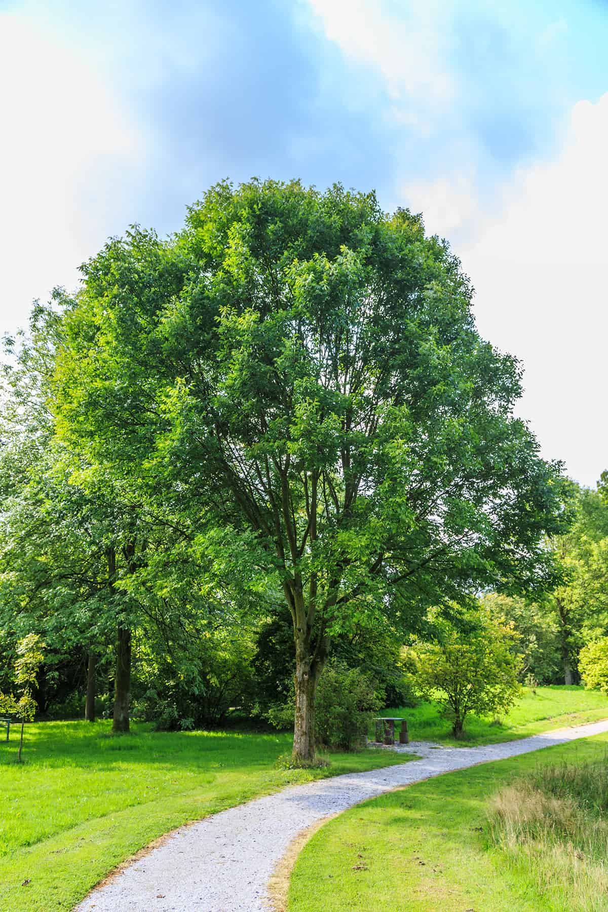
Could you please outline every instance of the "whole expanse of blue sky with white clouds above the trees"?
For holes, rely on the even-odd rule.
[[[606,48],[605,0],[0,0],[0,331],[221,178],[375,188],[448,238],[544,455],[593,484]]]

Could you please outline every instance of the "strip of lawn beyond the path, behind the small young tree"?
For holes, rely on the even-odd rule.
[[[608,697],[599,690],[585,690],[582,687],[539,687],[535,694],[531,689],[523,688],[521,699],[500,720],[500,724],[492,719],[467,716],[461,741],[454,740],[449,722],[442,718],[435,703],[420,703],[412,709],[400,707],[386,710],[383,715],[403,716],[407,719],[411,741],[439,741],[470,747],[474,744],[513,741],[540,734],[541,731],[608,719]]]

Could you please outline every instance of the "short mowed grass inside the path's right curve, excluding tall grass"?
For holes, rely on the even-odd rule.
[[[360,804],[304,846],[288,912],[605,912],[605,876],[572,889],[551,858],[492,845],[492,796],[522,773],[606,762],[608,735],[419,782]],[[576,848],[576,847],[574,847]],[[511,847],[512,849],[512,847]]]

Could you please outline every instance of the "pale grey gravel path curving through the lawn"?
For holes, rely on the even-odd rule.
[[[76,912],[267,912],[273,868],[311,824],[399,785],[603,731],[608,720],[486,747],[399,746],[421,759],[294,785],[175,830],[90,893]]]

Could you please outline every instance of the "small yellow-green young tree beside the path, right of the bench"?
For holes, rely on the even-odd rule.
[[[417,690],[425,700],[437,700],[455,738],[462,737],[469,712],[507,712],[520,691],[512,629],[481,612],[469,621],[459,629],[438,618],[437,642],[417,642],[411,650]]]

